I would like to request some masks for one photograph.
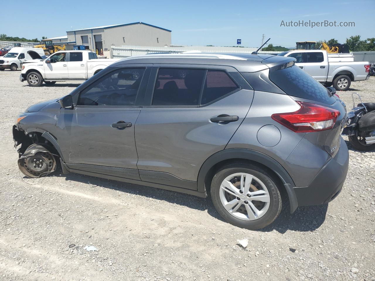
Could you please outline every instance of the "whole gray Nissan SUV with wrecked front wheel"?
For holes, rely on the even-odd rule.
[[[102,70],[13,126],[24,175],[63,173],[209,193],[229,223],[259,229],[283,200],[330,202],[348,149],[344,104],[290,57],[150,54]],[[285,194],[285,196],[281,196]]]

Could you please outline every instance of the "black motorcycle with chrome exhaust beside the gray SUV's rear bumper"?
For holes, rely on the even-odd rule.
[[[355,106],[354,96],[360,103]],[[347,135],[353,148],[360,151],[375,149],[375,103],[363,103],[352,94],[353,109],[348,112],[341,135]]]

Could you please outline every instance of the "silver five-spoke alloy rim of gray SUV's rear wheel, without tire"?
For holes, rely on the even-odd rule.
[[[220,201],[233,217],[245,221],[258,220],[270,207],[266,185],[249,173],[234,173],[220,184]]]

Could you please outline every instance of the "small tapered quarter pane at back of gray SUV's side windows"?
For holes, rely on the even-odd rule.
[[[220,97],[237,90],[237,88],[237,84],[233,82],[225,71],[207,70],[201,105],[219,99]]]

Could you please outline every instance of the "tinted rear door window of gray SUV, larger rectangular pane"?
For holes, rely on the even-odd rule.
[[[152,105],[198,105],[205,69],[160,68]]]

